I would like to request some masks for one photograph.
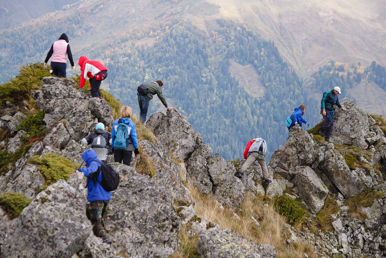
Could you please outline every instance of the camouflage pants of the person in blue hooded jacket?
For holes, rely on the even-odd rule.
[[[93,225],[94,235],[101,237],[103,240],[107,238],[105,231],[105,220],[107,218],[108,201],[93,201],[86,208],[86,215]]]

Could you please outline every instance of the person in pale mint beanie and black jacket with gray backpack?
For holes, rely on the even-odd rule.
[[[82,139],[82,144],[91,144],[91,148],[105,148],[108,150],[107,155],[113,154],[110,147],[112,144],[111,133],[105,132],[103,123],[98,123],[95,131]]]

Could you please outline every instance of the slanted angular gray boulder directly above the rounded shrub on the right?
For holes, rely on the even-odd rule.
[[[327,186],[318,178],[311,167],[298,166],[293,183],[297,185],[298,194],[302,197],[312,213],[318,213],[324,206],[328,195]]]

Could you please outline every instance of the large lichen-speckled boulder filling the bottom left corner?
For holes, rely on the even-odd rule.
[[[63,179],[39,193],[10,223],[2,251],[63,250],[68,253],[60,256],[66,258],[83,249],[92,229],[84,196]]]

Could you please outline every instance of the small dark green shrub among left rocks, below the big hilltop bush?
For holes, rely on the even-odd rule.
[[[27,132],[27,135],[22,137],[24,142],[27,142],[30,139],[41,138],[46,135],[47,128],[43,121],[44,111],[38,111],[35,114],[30,114],[23,120],[19,126],[17,126],[17,131],[24,130]]]

